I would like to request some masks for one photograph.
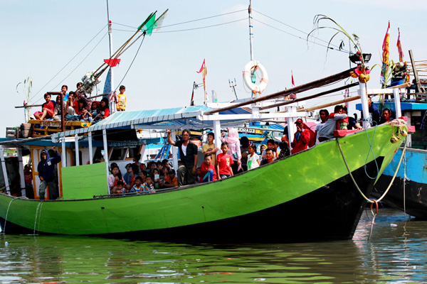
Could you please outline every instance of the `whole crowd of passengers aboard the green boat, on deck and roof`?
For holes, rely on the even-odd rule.
[[[66,86],[64,87],[66,89]],[[124,91],[125,87],[121,86],[120,93],[123,94]],[[108,111],[105,111],[108,109],[107,99],[102,99],[100,104],[91,102],[90,109],[93,109],[91,111],[87,109],[85,99],[80,98],[74,101],[75,93],[70,92],[67,95],[66,107],[68,109],[64,109],[64,111],[67,111],[68,115],[72,116],[81,113],[80,117],[83,119],[85,117],[93,118],[99,114],[103,116],[102,119],[108,116]],[[45,97],[46,104],[50,104],[49,95],[47,94]],[[76,111],[76,108],[78,111]],[[58,109],[58,98],[54,109]],[[43,108],[42,116],[44,117],[41,117],[41,119],[46,119],[44,111],[46,111],[46,108]],[[390,109],[384,109],[380,117],[378,109],[371,104],[370,99],[369,112],[374,124],[384,123],[393,119]],[[53,118],[56,115],[58,114],[53,112]],[[139,162],[141,160],[141,155],[139,154],[135,156],[134,163],[126,165],[126,173],[123,175],[118,165],[112,163],[110,165],[110,175],[107,178],[110,195],[123,195],[126,193],[150,194],[161,189],[223,180],[238,173],[258,168],[260,165],[286,158],[291,154],[304,151],[316,143],[334,138],[334,131],[337,129],[362,129],[359,121],[349,117],[347,108],[341,105],[334,107],[334,112],[331,114],[327,109],[321,109],[319,116],[320,123],[316,125],[315,131],[312,131],[302,119],[297,119],[295,121],[296,131],[292,142],[290,142],[287,129],[285,129],[281,141],[276,141],[273,138],[268,139],[266,145],[262,144],[260,146],[259,153],[257,153],[257,146],[254,143],[250,143],[247,137],[239,138],[238,131],[235,128],[228,128],[228,135],[221,132],[220,148],[214,143],[215,134],[209,132],[207,133],[207,143],[201,148],[204,154],[204,162],[201,163],[199,168],[197,168],[198,147],[191,142],[189,129],[184,129],[182,131],[182,140],[177,141],[172,140],[171,131],[167,130],[168,143],[179,149],[181,159],[179,160],[178,168],[176,170],[172,168],[167,159],[161,162],[152,161],[146,166],[144,163]],[[41,198],[44,198],[46,186],[49,188],[54,187],[52,184],[52,165],[59,163],[60,155],[54,151],[53,156],[53,158],[49,157],[47,152],[42,151],[41,153],[41,163],[38,165],[39,177],[41,178],[39,190]],[[55,191],[53,190],[52,192]]]

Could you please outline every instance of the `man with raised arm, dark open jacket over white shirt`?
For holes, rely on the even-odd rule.
[[[181,158],[181,165],[176,173],[178,175],[178,186],[193,185],[196,182],[196,166],[197,166],[197,146],[190,141],[190,131],[184,129],[182,131],[182,140],[172,141],[171,131],[168,129],[167,142],[172,146],[179,148],[179,157]]]

